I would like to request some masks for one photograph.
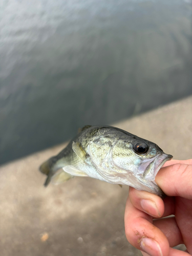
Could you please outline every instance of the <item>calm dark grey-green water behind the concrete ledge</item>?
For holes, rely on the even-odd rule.
[[[176,0],[2,0],[0,163],[192,94],[191,10]]]

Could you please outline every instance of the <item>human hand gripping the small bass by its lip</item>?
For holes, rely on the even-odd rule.
[[[165,199],[130,187],[126,238],[144,256],[192,255],[192,159],[166,162],[155,181],[167,195]],[[175,217],[162,219],[169,215]],[[185,244],[187,252],[171,248],[179,244]]]

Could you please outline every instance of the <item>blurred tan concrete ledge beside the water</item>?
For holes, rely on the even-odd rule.
[[[156,142],[175,159],[187,159],[192,148],[191,114],[188,97],[116,126]],[[82,177],[42,185],[45,176],[38,166],[65,145],[0,168],[1,256],[141,255],[124,235],[127,186]]]

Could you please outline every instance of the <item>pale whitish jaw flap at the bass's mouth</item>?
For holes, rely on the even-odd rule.
[[[158,154],[155,157],[155,159],[146,167],[143,173],[143,178],[147,180],[155,180],[155,177],[159,172],[159,169],[163,166],[163,164],[166,161],[169,161],[172,158],[173,158],[172,155],[168,155],[165,153]]]

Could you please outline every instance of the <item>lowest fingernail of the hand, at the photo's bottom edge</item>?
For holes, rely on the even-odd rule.
[[[151,238],[142,238],[140,247],[143,251],[150,254],[151,256],[163,256],[159,244]]]

